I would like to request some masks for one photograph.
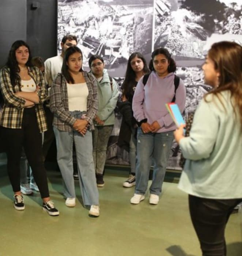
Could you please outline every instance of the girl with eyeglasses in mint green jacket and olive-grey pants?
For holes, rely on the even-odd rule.
[[[114,109],[117,105],[119,90],[116,81],[104,69],[105,64],[101,56],[92,55],[88,63],[98,85],[98,112],[94,118],[94,131],[92,133],[93,159],[97,186],[103,187],[107,143],[113,130]]]

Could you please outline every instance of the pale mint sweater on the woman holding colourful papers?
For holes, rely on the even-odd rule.
[[[210,94],[200,102],[190,136],[179,146],[187,159],[178,187],[190,195],[211,199],[242,198],[242,130],[230,91]]]

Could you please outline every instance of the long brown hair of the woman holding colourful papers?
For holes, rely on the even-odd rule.
[[[208,94],[216,95],[222,103],[220,93],[229,90],[234,112],[237,113],[235,108],[239,109],[239,120],[242,125],[242,46],[235,42],[218,42],[211,46],[208,57],[214,62],[214,68],[220,74],[218,87]]]

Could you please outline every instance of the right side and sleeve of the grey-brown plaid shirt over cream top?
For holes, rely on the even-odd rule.
[[[98,112],[98,93],[97,93],[97,80],[94,76],[86,71],[83,71],[83,76],[87,83],[87,88],[89,91],[87,97],[87,115],[84,119],[91,124],[92,129],[93,127],[93,118]]]

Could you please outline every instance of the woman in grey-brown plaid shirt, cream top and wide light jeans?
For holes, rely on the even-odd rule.
[[[98,110],[97,82],[82,69],[82,51],[69,47],[64,54],[61,73],[50,89],[50,110],[54,113],[57,162],[64,180],[65,204],[76,205],[72,149],[76,148],[77,169],[83,203],[89,215],[99,216],[99,195],[92,157],[93,119]]]

